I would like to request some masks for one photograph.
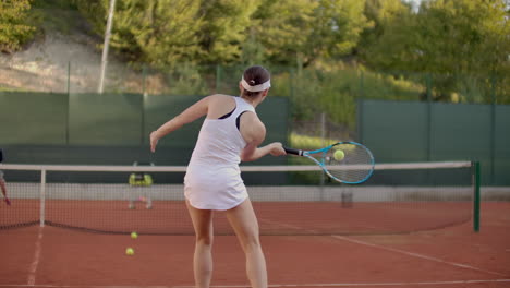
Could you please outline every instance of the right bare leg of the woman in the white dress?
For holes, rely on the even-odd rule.
[[[250,199],[227,211],[227,218],[234,229],[246,256],[246,274],[252,287],[266,288],[266,260],[258,237],[258,221]]]

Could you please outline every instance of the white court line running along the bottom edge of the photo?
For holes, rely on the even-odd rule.
[[[428,286],[428,285],[470,285],[470,284],[498,284],[498,283],[510,283],[510,279],[488,279],[488,280],[451,280],[451,281],[409,281],[409,283],[324,283],[324,284],[270,284],[269,287],[369,287],[369,286]],[[120,285],[2,285],[0,287],[46,287],[46,288],[76,288],[76,287],[88,287],[88,288],[194,288],[195,286],[120,286]],[[211,285],[212,288],[248,288],[250,285]]]

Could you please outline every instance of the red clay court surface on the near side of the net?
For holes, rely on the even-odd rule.
[[[8,208],[2,206],[2,209]],[[402,219],[405,221],[405,219]],[[270,287],[510,287],[510,203],[482,204],[481,231],[263,236]],[[0,287],[192,287],[193,236],[0,230]],[[234,236],[214,243],[214,287],[248,287]],[[135,250],[133,256],[124,251]]]

